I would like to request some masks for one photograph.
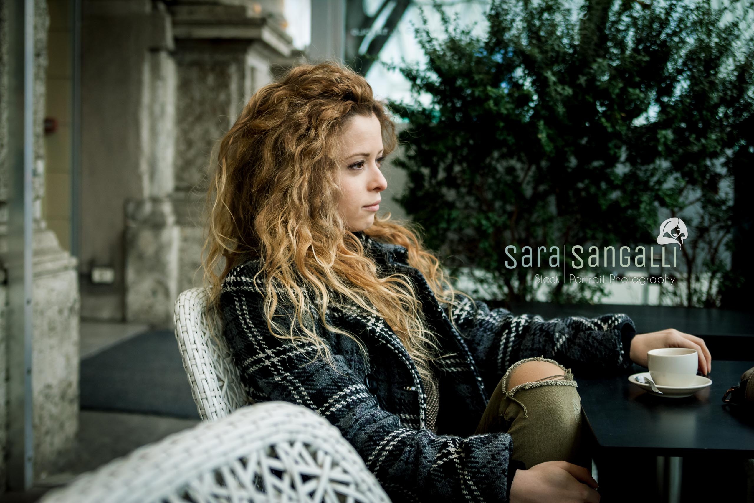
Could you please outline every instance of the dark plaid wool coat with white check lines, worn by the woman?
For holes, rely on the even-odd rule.
[[[324,416],[393,501],[508,501],[515,469],[523,468],[510,460],[510,435],[474,435],[507,368],[533,356],[579,370],[627,368],[633,321],[624,314],[544,321],[461,297],[466,302],[453,310],[455,330],[424,276],[408,265],[405,247],[354,234],[379,265],[412,278],[443,351],[459,355],[441,363],[437,434],[425,428],[427,402],[415,364],[381,317],[328,308],[328,322],[359,336],[369,358],[365,362],[350,338],[329,333],[317,321],[338,371],[321,360],[308,363],[314,345],[282,341],[267,331],[263,297],[253,286],[257,260],[233,268],[220,297],[225,338],[247,393],[255,401],[285,400]],[[257,285],[263,291],[262,281]],[[310,311],[317,320],[317,309],[310,305]]]

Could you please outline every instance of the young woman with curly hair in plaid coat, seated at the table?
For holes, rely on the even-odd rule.
[[[453,290],[378,216],[394,125],[339,64],[259,89],[213,158],[205,270],[251,400],[329,419],[393,501],[599,501],[570,368],[646,365],[624,314],[544,321]]]

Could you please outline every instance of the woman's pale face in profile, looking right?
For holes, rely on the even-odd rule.
[[[388,187],[382,176],[382,130],[379,120],[354,115],[344,130],[343,150],[340,162],[340,188],[343,199],[340,212],[351,232],[363,231],[374,223],[376,210],[369,207],[382,199],[380,192]]]

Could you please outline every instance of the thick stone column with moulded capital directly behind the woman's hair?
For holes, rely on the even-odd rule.
[[[173,121],[172,140],[162,137],[173,147],[170,159],[149,166],[163,170],[159,204],[130,201],[126,245],[127,320],[160,326],[172,326],[178,293],[202,284],[203,203],[214,143],[254,90],[272,80],[271,63],[293,53],[276,18],[255,14],[253,5],[185,0],[168,11],[175,40],[174,117],[147,117],[161,127]],[[163,92],[167,96],[167,87]]]

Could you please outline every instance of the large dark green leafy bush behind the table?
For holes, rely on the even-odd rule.
[[[547,261],[506,268],[508,245],[559,247],[553,272],[568,275],[564,245],[659,249],[660,223],[680,216],[690,237],[671,271],[691,281],[661,290],[676,304],[719,305],[734,278],[722,259],[731,251],[732,182],[754,165],[746,32],[754,7],[573,5],[493,2],[478,36],[436,2],[441,38],[422,11],[423,64],[384,63],[417,98],[390,103],[409,123],[395,161],[408,175],[398,201],[453,274],[484,271],[479,281],[510,300],[534,299],[534,276],[551,273]],[[710,287],[700,281],[705,273]],[[547,299],[599,302],[604,294],[604,285],[561,281]]]

